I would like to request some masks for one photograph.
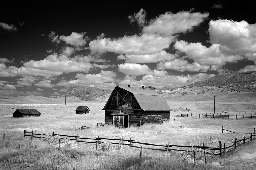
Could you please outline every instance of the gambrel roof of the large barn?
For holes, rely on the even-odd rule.
[[[113,92],[111,93],[109,100],[105,104],[104,110],[106,106],[108,106],[112,96],[114,95],[116,89],[124,89],[132,93],[137,100],[140,108],[144,111],[171,111],[169,105],[165,101],[162,95],[158,94],[154,90],[143,89],[143,88],[131,88],[124,86],[116,86]]]

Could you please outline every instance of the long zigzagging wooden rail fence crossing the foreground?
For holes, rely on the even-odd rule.
[[[31,134],[31,135],[26,135],[26,134]],[[24,130],[24,137],[26,136],[31,136],[31,143],[32,143],[32,139],[33,138],[44,138],[43,136],[45,136],[47,134],[37,134],[37,133],[33,133],[32,132],[26,132],[26,130]],[[250,141],[253,139],[256,139],[256,134],[252,134],[246,138],[246,136],[244,136],[243,139],[238,140],[235,139],[235,141],[233,142],[232,145],[230,146],[226,146],[226,144],[224,143],[224,147],[222,146],[222,142],[219,141],[219,147],[218,148],[214,148],[214,147],[208,147],[208,146],[183,146],[183,145],[170,145],[170,143],[166,144],[166,145],[158,145],[158,144],[153,144],[153,143],[143,143],[143,142],[136,142],[135,140],[131,140],[130,139],[112,139],[112,138],[100,138],[99,136],[96,138],[85,138],[85,137],[80,137],[78,136],[78,134],[76,136],[70,136],[70,135],[60,135],[60,134],[56,134],[56,133],[52,133],[50,134],[50,136],[62,136],[65,139],[69,139],[69,140],[75,140],[75,142],[83,142],[83,143],[95,143],[96,144],[96,150],[98,148],[98,145],[103,143],[104,141],[111,141],[111,143],[113,145],[120,145],[120,141],[122,141],[121,145],[126,145],[129,147],[133,147],[133,148],[140,148],[141,149],[141,154],[142,154],[142,148],[144,149],[148,149],[148,150],[157,150],[157,151],[162,151],[162,152],[170,152],[170,151],[185,151],[185,152],[194,152],[193,149],[195,148],[199,148],[202,149],[202,151],[200,152],[204,152],[205,155],[221,155],[222,153],[226,153],[231,151],[232,149],[236,149],[237,146],[244,144],[246,141]],[[116,142],[118,141],[118,142]],[[60,148],[60,143],[61,143],[61,138],[59,139],[59,148]]]

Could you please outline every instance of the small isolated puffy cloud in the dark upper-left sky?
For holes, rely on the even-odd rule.
[[[87,36],[85,36],[86,32],[82,33],[76,33],[72,32],[71,35],[65,36],[65,35],[56,35],[55,32],[51,31],[51,33],[48,35],[48,37],[51,39],[53,43],[59,44],[61,41],[65,42],[66,44],[72,45],[72,46],[84,46],[87,43],[87,40],[89,39]]]

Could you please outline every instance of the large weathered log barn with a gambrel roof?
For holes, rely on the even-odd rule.
[[[154,90],[116,86],[104,108],[105,123],[117,127],[163,123],[170,120],[170,107]]]

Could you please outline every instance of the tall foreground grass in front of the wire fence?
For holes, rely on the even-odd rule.
[[[0,169],[26,170],[117,170],[117,169],[225,169],[210,164],[171,159],[168,156],[148,157],[114,151],[97,151],[83,148],[61,148],[54,145],[25,141],[0,141]]]

